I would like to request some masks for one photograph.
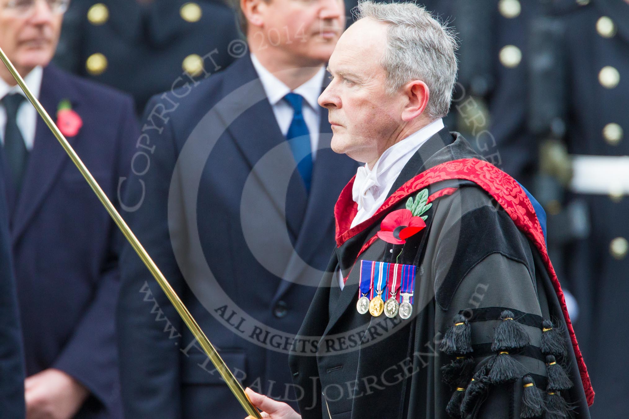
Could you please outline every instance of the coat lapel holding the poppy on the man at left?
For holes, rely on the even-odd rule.
[[[48,66],[44,69],[40,102],[53,120],[57,114],[58,103],[62,99],[70,99],[73,109],[81,114],[77,96],[73,95],[73,92],[72,87],[65,82],[55,68]],[[74,146],[80,136],[81,133],[75,138],[68,138],[68,141]],[[37,116],[35,143],[28,159],[24,184],[13,212],[13,231],[11,232],[13,242],[16,242],[23,234],[30,219],[43,204],[53,183],[58,180],[62,166],[69,160],[57,138],[48,129],[43,119]]]

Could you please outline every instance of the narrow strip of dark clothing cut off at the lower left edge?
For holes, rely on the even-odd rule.
[[[0,158],[0,171],[3,169]],[[23,418],[24,362],[15,294],[9,214],[4,180],[0,178],[0,411],[8,418]]]

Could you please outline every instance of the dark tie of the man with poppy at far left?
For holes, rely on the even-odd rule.
[[[19,192],[22,186],[26,162],[28,161],[28,150],[18,127],[18,109],[25,99],[21,94],[8,94],[0,101],[6,110],[4,158],[6,158],[16,192]]]

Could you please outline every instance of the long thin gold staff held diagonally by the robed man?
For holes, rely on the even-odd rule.
[[[55,122],[50,119],[48,112],[43,109],[42,104],[40,104],[37,98],[33,96],[31,90],[28,89],[28,86],[25,84],[24,80],[19,75],[15,67],[13,67],[13,63],[11,63],[11,60],[9,60],[9,58],[6,56],[2,48],[0,48],[0,58],[3,60],[4,65],[6,65],[6,67],[9,69],[9,72],[11,72],[11,75],[13,75],[13,78],[16,80],[16,82],[18,82],[19,87],[24,90],[26,97],[28,97],[28,100],[31,102],[31,104],[33,104],[33,106],[35,106],[38,114],[40,114],[44,122],[46,122],[46,125],[48,126],[48,128],[50,128],[50,131],[55,134],[55,137],[57,137],[65,152],[68,153],[70,159],[72,159],[72,161],[74,162],[74,165],[77,166],[79,171],[81,171],[81,175],[83,175],[94,193],[96,193],[96,196],[101,201],[101,204],[103,204],[107,212],[109,212],[109,215],[111,215],[111,218],[113,218],[116,226],[118,226],[122,234],[124,234],[126,239],[131,243],[131,246],[133,246],[133,249],[135,249],[136,253],[138,253],[138,256],[140,256],[144,264],[147,265],[148,270],[151,271],[153,277],[155,278],[155,280],[157,280],[157,283],[159,283],[159,286],[162,287],[162,290],[164,290],[164,292],[166,293],[166,297],[168,297],[172,305],[175,306],[177,313],[179,313],[181,318],[184,320],[184,323],[186,323],[188,329],[190,329],[196,340],[198,340],[199,344],[201,344],[201,347],[203,347],[203,351],[205,351],[205,353],[208,355],[210,361],[212,361],[212,364],[214,364],[214,367],[216,367],[216,369],[218,370],[218,373],[221,374],[221,377],[223,377],[225,383],[227,383],[227,385],[231,389],[231,392],[236,396],[238,401],[240,401],[240,404],[243,406],[243,408],[245,408],[247,415],[261,419],[262,416],[260,415],[259,411],[255,408],[255,406],[252,405],[247,394],[245,393],[245,390],[242,388],[240,383],[238,383],[236,378],[231,373],[230,369],[226,366],[225,361],[223,361],[218,352],[216,352],[216,349],[214,349],[214,346],[209,342],[208,337],[203,333],[203,330],[201,330],[199,324],[196,322],[196,320],[194,320],[184,303],[181,301],[181,298],[179,298],[175,290],[172,289],[172,286],[170,286],[169,282],[166,280],[166,278],[164,278],[164,275],[159,270],[159,268],[157,268],[157,265],[155,264],[155,262],[153,262],[153,259],[148,256],[147,251],[143,248],[137,237],[135,237],[133,231],[131,231],[129,226],[126,225],[125,220],[123,220],[120,214],[118,214],[118,211],[113,206],[113,204],[111,204],[111,201],[109,200],[107,195],[105,195],[100,185],[98,185],[94,177],[92,177],[92,173],[87,170],[87,167],[83,164],[81,158],[79,158],[79,155],[77,155],[72,146],[70,146],[68,140],[65,139],[64,134],[59,131],[57,125],[55,125]]]

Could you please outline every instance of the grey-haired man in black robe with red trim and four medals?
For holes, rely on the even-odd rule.
[[[252,402],[274,419],[589,417],[537,201],[443,126],[454,36],[413,4],[359,17],[319,103],[333,149],[365,166],[292,345],[300,413]]]

